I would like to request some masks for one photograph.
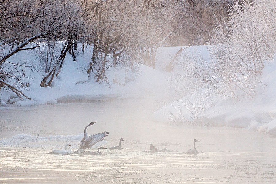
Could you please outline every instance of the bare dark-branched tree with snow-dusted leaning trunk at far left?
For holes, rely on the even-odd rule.
[[[20,51],[44,45],[44,41],[53,35],[63,35],[63,27],[72,13],[72,2],[11,0],[0,2],[0,9],[0,85],[10,88],[19,97],[27,98],[18,89],[28,85],[20,80],[24,76],[24,69],[23,73],[19,71],[22,71],[22,67],[34,66],[22,65],[10,58]]]

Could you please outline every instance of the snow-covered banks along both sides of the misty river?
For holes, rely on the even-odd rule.
[[[175,58],[179,49],[184,50]],[[266,63],[255,86],[255,96],[230,98],[217,95],[212,86],[196,84],[187,77],[189,62],[209,62],[209,46],[162,47],[157,50],[156,69],[143,64],[136,71],[127,67],[111,67],[106,71],[109,84],[99,83],[88,77],[91,51],[77,56],[77,62],[68,54],[58,78],[52,87],[40,87],[41,73],[24,68],[22,79],[29,87],[23,92],[34,99],[19,100],[13,92],[1,88],[1,105],[43,105],[65,102],[141,98],[148,96],[155,103],[154,119],[158,122],[174,122],[189,126],[230,126],[258,130],[276,135],[276,60]],[[32,61],[35,54],[22,51],[14,59]],[[216,87],[216,86],[215,86]],[[219,86],[217,86],[219,87]],[[173,102],[172,102],[173,101]],[[170,103],[171,102],[171,103]],[[2,107],[4,107],[2,106]],[[163,106],[163,107],[162,107]]]

